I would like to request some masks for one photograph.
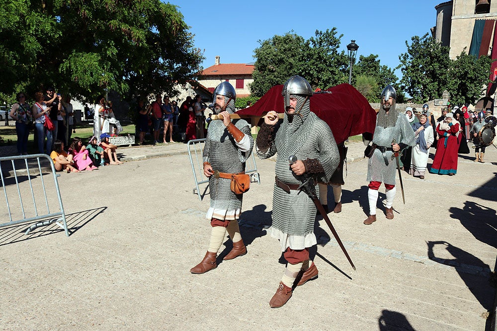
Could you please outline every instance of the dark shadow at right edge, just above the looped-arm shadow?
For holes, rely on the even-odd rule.
[[[450,207],[450,217],[458,219],[475,239],[497,248],[496,210],[473,201],[465,201],[464,207]]]

